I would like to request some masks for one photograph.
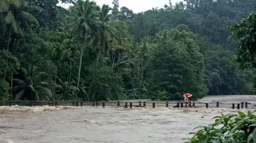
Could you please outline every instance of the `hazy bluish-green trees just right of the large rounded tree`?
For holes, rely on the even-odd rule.
[[[215,50],[214,50],[215,49]],[[206,80],[209,95],[239,95],[247,82],[239,78],[237,66],[231,63],[234,54],[213,46],[205,51]],[[251,91],[253,88],[251,89]]]

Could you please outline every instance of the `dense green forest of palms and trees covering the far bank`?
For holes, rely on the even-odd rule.
[[[255,0],[169,0],[143,13],[58,2],[0,0],[0,100],[254,94],[255,51],[237,47]]]

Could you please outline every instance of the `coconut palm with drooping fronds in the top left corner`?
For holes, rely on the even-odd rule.
[[[38,6],[31,6],[26,0],[1,0],[0,11],[6,12],[4,20],[9,24],[9,36],[7,50],[9,50],[11,30],[16,34],[24,34],[24,31],[32,31],[32,24],[39,25],[37,20],[28,11],[43,9]]]

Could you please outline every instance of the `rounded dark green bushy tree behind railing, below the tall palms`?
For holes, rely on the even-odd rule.
[[[90,100],[117,100],[124,97],[122,76],[107,66],[90,66],[86,79]]]

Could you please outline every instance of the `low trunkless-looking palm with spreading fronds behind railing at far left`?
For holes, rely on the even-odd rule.
[[[24,79],[13,79],[15,100],[53,100],[52,92],[48,89],[50,83],[45,80],[49,77],[46,72],[39,71],[35,66],[31,66],[28,71],[24,68],[21,70]]]

